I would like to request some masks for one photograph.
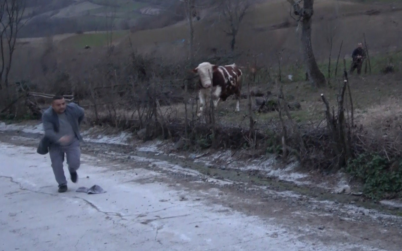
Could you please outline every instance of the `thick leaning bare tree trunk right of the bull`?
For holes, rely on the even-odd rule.
[[[306,62],[308,77],[314,86],[326,86],[324,74],[322,74],[318,68],[311,43],[314,0],[297,0],[297,2],[295,2],[295,0],[287,0],[287,2],[292,5],[293,13],[298,16],[297,21],[301,22],[301,45],[303,47],[303,55],[304,61]],[[300,2],[303,2],[303,7],[299,5]]]

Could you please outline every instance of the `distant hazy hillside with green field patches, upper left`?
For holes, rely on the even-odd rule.
[[[129,29],[174,8],[176,0],[27,0],[20,37]]]

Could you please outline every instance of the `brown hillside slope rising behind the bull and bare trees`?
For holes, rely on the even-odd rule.
[[[399,4],[399,5],[397,5]],[[332,36],[332,55],[343,41],[343,53],[348,57],[365,33],[372,53],[389,53],[401,49],[401,3],[379,1],[317,0],[314,2],[312,43],[316,57],[328,60],[328,37]],[[276,53],[284,50],[284,64],[301,60],[297,22],[289,15],[285,0],[264,1],[251,8],[238,33],[236,51],[257,55],[263,65],[277,63]],[[197,55],[213,57],[230,51],[230,37],[222,31],[218,17],[210,14],[195,22]],[[138,51],[156,53],[168,59],[186,57],[187,24],[162,29],[143,30],[130,34]],[[179,43],[183,41],[184,43]],[[123,45],[125,47],[127,45]],[[170,53],[166,53],[170,52]]]

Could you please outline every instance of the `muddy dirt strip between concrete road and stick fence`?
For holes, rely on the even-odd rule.
[[[33,133],[0,132],[0,141],[13,145],[36,147],[39,139],[40,135]],[[96,157],[92,158],[96,163],[108,163],[108,173],[133,175],[137,170],[145,169],[160,174],[135,177],[134,183],[165,184],[177,186],[183,193],[201,193],[205,195],[203,204],[212,208],[224,207],[227,212],[256,217],[265,224],[269,222],[270,227],[280,226],[280,231],[269,232],[270,241],[279,238],[281,243],[284,236],[293,236],[293,240],[304,243],[286,250],[400,250],[402,244],[402,218],[395,216],[400,212],[387,211],[378,205],[377,209],[381,211],[375,210],[375,205],[366,208],[357,203],[358,199],[331,197],[323,190],[320,194],[315,187],[311,188],[313,192],[308,192],[289,182],[266,179],[266,183],[261,184],[253,175],[255,171],[216,168],[195,162],[194,158],[163,153],[149,144],[86,142],[82,144],[82,151]],[[250,249],[244,246],[242,250],[267,249],[256,245]]]

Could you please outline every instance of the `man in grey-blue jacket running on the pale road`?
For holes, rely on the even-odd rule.
[[[67,180],[63,169],[64,154],[71,181],[76,183],[78,180],[77,169],[80,167],[80,141],[82,141],[80,124],[83,118],[84,109],[75,103],[66,104],[63,96],[54,96],[51,107],[42,115],[45,137],[38,147],[38,153],[47,153],[48,147],[51,167],[59,184],[60,193],[67,191]]]

